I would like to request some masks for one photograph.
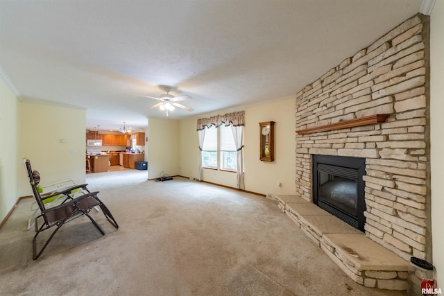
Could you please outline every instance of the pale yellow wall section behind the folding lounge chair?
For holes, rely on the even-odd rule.
[[[19,102],[18,112],[18,195],[32,194],[22,157],[31,159],[42,184],[67,179],[85,182],[85,110]]]

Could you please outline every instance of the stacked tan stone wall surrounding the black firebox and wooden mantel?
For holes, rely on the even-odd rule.
[[[374,114],[384,123],[296,136],[296,191],[311,201],[311,155],[366,158],[366,236],[428,259],[428,19],[416,15],[296,98],[296,130]]]

